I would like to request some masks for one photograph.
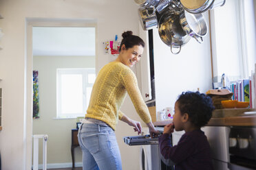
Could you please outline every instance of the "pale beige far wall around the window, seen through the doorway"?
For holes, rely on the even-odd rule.
[[[56,69],[95,68],[94,56],[34,56],[33,70],[39,71],[39,119],[33,119],[33,134],[47,134],[47,164],[72,162],[71,130],[76,119],[56,119]],[[42,140],[41,140],[42,141]],[[43,148],[40,142],[39,148]],[[75,149],[75,162],[82,162],[81,149]],[[43,152],[39,149],[39,164]]]

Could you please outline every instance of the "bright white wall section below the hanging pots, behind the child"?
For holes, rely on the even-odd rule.
[[[208,24],[209,15],[204,12]],[[179,54],[171,53],[153,29],[153,49],[155,64],[156,111],[171,106],[183,91],[198,88],[205,93],[211,86],[211,45],[209,32],[199,44],[194,38],[184,45]]]

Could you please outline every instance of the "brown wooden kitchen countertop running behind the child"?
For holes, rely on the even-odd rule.
[[[206,126],[256,126],[256,114],[244,114],[255,109],[218,109],[213,111],[213,117]],[[156,121],[155,126],[164,126],[172,121]]]

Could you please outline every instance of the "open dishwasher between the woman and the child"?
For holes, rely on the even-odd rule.
[[[164,127],[156,127],[163,132]],[[158,137],[150,138],[148,127],[142,130],[140,136],[125,136],[124,142],[129,146],[140,145],[140,170],[173,170],[173,165],[161,159]]]

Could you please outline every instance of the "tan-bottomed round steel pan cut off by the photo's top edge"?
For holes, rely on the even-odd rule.
[[[183,8],[193,14],[198,14],[209,10],[214,3],[214,0],[180,0]]]

